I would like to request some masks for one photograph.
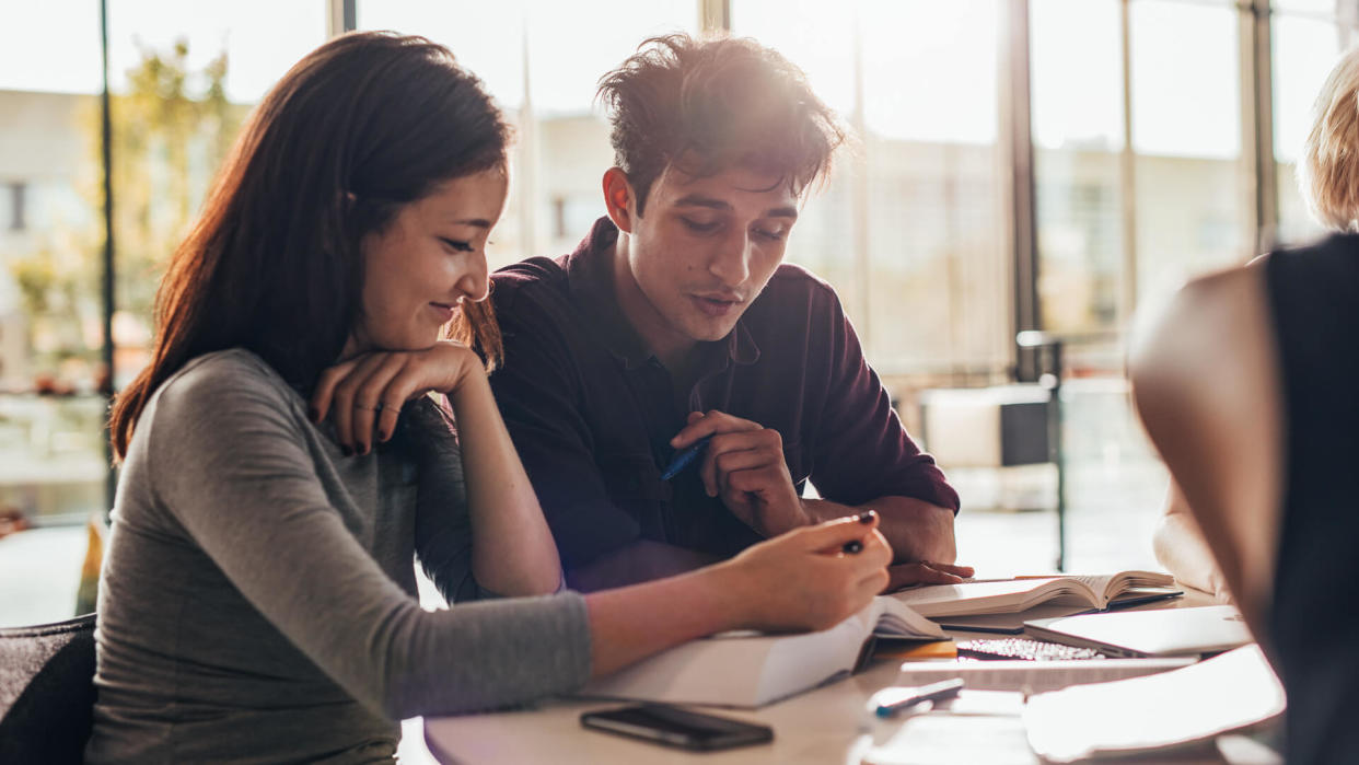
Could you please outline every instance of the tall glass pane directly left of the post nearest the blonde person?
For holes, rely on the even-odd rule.
[[[1131,7],[1137,302],[1252,255],[1237,11]]]

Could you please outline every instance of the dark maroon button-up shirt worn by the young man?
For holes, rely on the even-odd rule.
[[[718,556],[761,539],[704,493],[694,466],[660,480],[689,412],[779,431],[799,493],[810,480],[849,505],[908,496],[958,508],[830,285],[779,266],[731,334],[700,344],[697,382],[677,391],[614,298],[617,235],[599,219],[575,253],[506,266],[491,292],[504,336],[491,387],[567,571],[639,538]]]

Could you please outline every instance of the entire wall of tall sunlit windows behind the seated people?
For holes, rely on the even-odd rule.
[[[111,302],[99,4],[0,11],[0,508],[52,524],[107,507],[106,393],[145,363],[164,261],[250,107],[341,31],[345,11],[357,29],[448,45],[514,122],[493,266],[565,253],[603,212],[599,177],[613,158],[598,77],[646,37],[726,24],[798,64],[858,135],[806,202],[788,258],[836,287],[908,421],[917,389],[1011,376],[1014,332],[1030,322],[1017,315],[1025,289],[1037,298],[1031,322],[1068,340],[1068,375],[1082,378],[1065,386],[1070,499],[1090,510],[1090,535],[1076,539],[1087,550],[1104,544],[1097,531],[1110,538],[1108,518],[1131,518],[1125,505],[1142,515],[1116,541],[1143,537],[1161,491],[1121,372],[1133,311],[1196,273],[1321,232],[1295,163],[1316,92],[1359,24],[1356,0],[105,8]],[[1261,151],[1256,136],[1272,145]],[[1026,189],[1033,220],[1017,220]],[[1113,495],[1124,504],[1102,499]]]

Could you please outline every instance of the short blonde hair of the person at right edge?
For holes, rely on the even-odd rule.
[[[1359,48],[1341,56],[1317,94],[1298,186],[1321,224],[1359,231]]]

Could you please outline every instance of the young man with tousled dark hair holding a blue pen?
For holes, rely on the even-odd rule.
[[[783,264],[847,140],[834,113],[749,39],[648,39],[599,96],[616,154],[606,216],[575,253],[501,269],[492,291],[492,387],[568,582],[675,573],[868,508],[896,550],[893,586],[970,575],[949,565],[957,493],[830,285]],[[802,496],[809,480],[824,499]]]

